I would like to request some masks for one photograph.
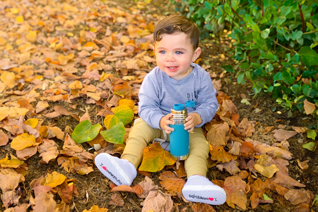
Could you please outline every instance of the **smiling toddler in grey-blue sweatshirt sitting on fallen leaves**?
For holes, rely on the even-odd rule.
[[[130,186],[137,176],[142,151],[149,142],[165,139],[174,129],[169,120],[174,104],[194,101],[188,108],[184,129],[190,133],[190,152],[184,166],[187,182],[182,194],[192,202],[223,204],[225,190],[207,179],[209,143],[201,126],[212,120],[218,110],[216,90],[211,77],[193,63],[201,53],[199,29],[190,19],[169,16],[160,21],[154,31],[157,66],[144,78],[139,91],[141,119],[130,129],[121,159],[107,153],[95,157],[98,169],[116,185]]]

